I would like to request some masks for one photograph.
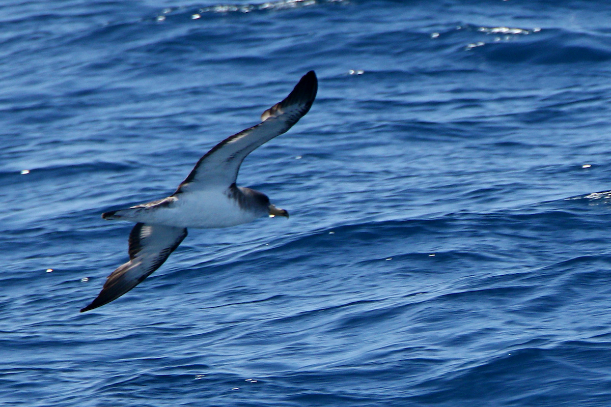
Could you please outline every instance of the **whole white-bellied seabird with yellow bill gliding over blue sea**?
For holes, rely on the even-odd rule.
[[[258,146],[283,134],[310,110],[318,81],[305,74],[282,102],[265,110],[261,123],[234,134],[199,159],[172,195],[119,211],[104,219],[136,222],[131,229],[130,261],[120,265],[104,283],[98,297],[81,312],[121,297],[159,268],[187,236],[187,228],[226,228],[288,212],[274,206],[262,192],[235,184],[242,161]]]

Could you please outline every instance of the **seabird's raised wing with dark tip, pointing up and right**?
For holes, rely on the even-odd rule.
[[[312,107],[318,90],[314,71],[305,74],[287,98],[261,115],[262,123],[234,134],[199,159],[176,193],[202,190],[210,185],[227,186],[238,177],[242,161],[258,146],[283,134]]]

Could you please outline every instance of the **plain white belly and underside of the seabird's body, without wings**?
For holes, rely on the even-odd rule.
[[[227,228],[252,222],[265,212],[244,211],[226,190],[180,193],[167,205],[117,211],[121,220],[178,228]]]

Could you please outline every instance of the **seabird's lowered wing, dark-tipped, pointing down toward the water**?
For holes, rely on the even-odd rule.
[[[81,312],[116,300],[136,287],[166,261],[186,236],[186,228],[136,223],[130,233],[130,261],[108,276],[98,297]]]

